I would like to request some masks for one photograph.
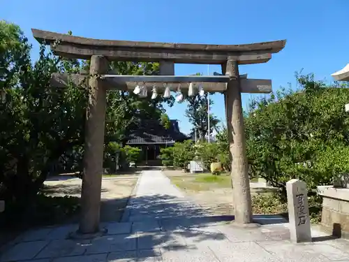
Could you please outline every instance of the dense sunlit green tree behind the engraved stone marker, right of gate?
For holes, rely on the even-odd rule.
[[[331,183],[334,173],[349,171],[348,161],[326,160],[329,152],[343,152],[349,145],[349,116],[343,110],[349,89],[325,85],[313,75],[296,78],[297,92],[283,89],[253,101],[245,117],[251,175],[280,187],[283,197],[285,182],[292,178],[313,189]]]

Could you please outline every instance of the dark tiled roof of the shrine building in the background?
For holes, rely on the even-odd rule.
[[[188,136],[179,131],[177,120],[170,120],[170,123],[170,128],[165,129],[156,120],[145,120],[140,123],[138,129],[128,136],[126,144],[170,144],[188,139]]]

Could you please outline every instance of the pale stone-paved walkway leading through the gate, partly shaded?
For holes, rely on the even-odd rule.
[[[349,261],[349,244],[313,230],[312,243],[292,244],[279,217],[259,216],[259,228],[228,224],[187,199],[161,171],[144,171],[123,221],[103,224],[107,235],[69,240],[77,225],[21,235],[0,261]],[[271,224],[281,223],[281,224]]]

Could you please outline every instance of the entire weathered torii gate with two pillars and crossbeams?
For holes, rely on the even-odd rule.
[[[239,64],[265,63],[273,53],[285,47],[285,41],[252,43],[246,45],[203,45],[186,43],[151,43],[138,41],[97,40],[32,29],[34,38],[51,45],[54,54],[67,58],[90,59],[89,104],[87,107],[84,175],[82,177],[82,216],[79,233],[99,232],[101,181],[103,173],[103,143],[107,89],[133,89],[138,83],[152,88],[171,85],[172,91],[188,89],[190,83],[200,85],[207,92],[221,92],[225,98],[228,139],[232,157],[232,185],[235,222],[253,222],[251,191],[248,179],[248,161],[242,115],[241,93],[272,92],[271,80],[247,79],[239,75]],[[115,75],[108,71],[108,61],[151,61],[160,63],[160,74]],[[177,76],[174,63],[221,64],[223,75]],[[99,77],[96,78],[96,75]],[[79,82],[86,75],[70,75]],[[52,85],[65,87],[68,75],[54,75]]]

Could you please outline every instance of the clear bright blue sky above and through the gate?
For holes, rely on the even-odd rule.
[[[0,19],[20,25],[34,52],[38,44],[31,28],[129,41],[241,44],[286,39],[285,49],[268,63],[240,67],[249,78],[272,79],[274,90],[294,86],[295,71],[302,68],[331,81],[330,74],[349,63],[348,0],[12,0],[1,3]],[[209,69],[221,72],[220,66]],[[175,71],[206,75],[207,65],[178,64]],[[243,105],[253,96],[243,94]],[[211,98],[211,112],[223,120],[223,96]],[[175,104],[168,114],[188,132],[185,110],[186,104]]]

